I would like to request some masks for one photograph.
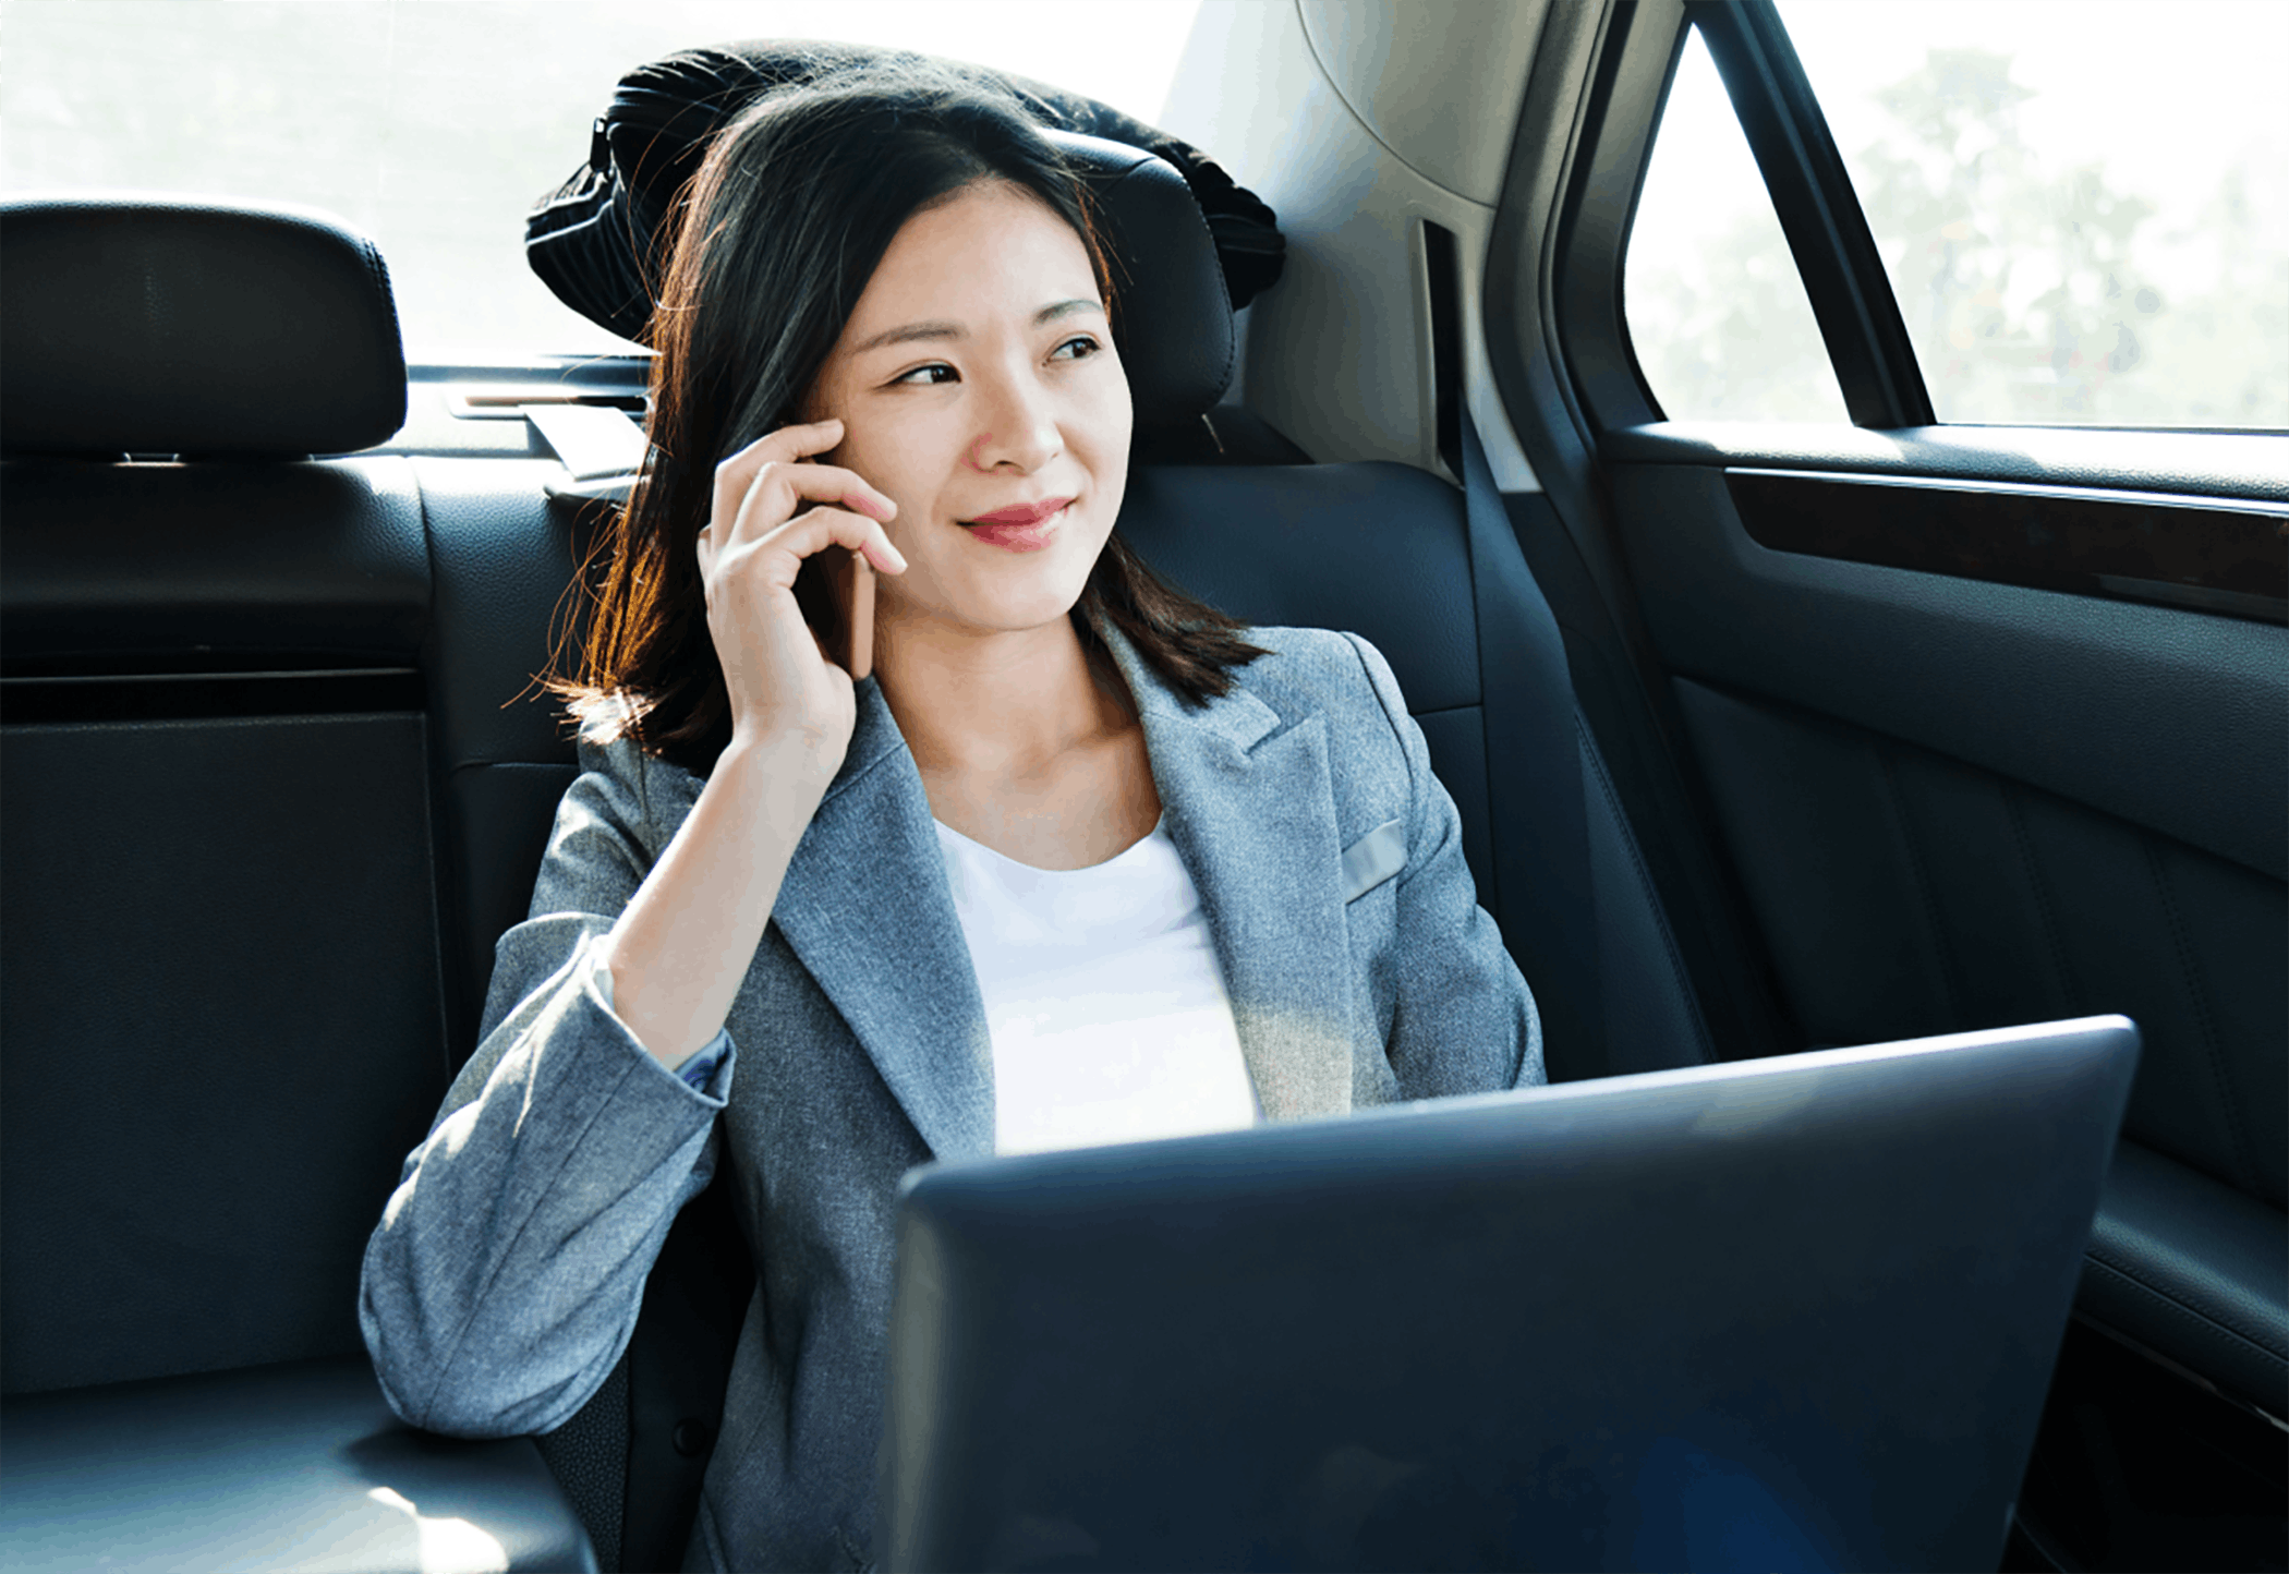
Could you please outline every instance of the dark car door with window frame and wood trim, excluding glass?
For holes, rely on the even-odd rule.
[[[1488,352],[1547,512],[1593,565],[1573,577],[1589,595],[1563,595],[1570,556],[1522,524],[1600,744],[1650,766],[1625,773],[1639,835],[1657,869],[1696,849],[1724,869],[1776,1048],[2140,1023],[2007,1567],[2159,1567],[2195,1544],[2211,1551],[2184,1567],[2278,1567],[2289,442],[1932,426],[1769,0],[1568,18],[1520,117]],[[1623,263],[1689,25],[1854,426],[1664,421],[1639,368]],[[1682,794],[1660,803],[1644,782],[1664,773]],[[1687,938],[1724,936],[1724,892],[1701,888],[1719,899],[1680,901],[1676,879],[1664,899]],[[1756,993],[1749,968],[1710,977],[1721,947],[1687,949],[1703,997]]]

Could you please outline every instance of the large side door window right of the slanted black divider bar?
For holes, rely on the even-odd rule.
[[[2289,7],[1779,9],[1941,421],[2289,426]]]

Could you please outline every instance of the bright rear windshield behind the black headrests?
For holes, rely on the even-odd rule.
[[[623,352],[524,265],[618,78],[737,39],[895,43],[1161,117],[1199,0],[181,5],[9,0],[0,190],[295,201],[389,259],[419,359]]]

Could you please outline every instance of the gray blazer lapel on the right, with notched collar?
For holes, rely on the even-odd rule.
[[[1280,716],[1241,686],[1195,709],[1117,627],[1096,627],[1138,700],[1264,1114],[1351,1110],[1351,940],[1325,721],[1275,732]]]

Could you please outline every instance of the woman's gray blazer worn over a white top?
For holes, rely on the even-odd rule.
[[[1524,979],[1373,645],[1273,654],[1190,707],[1117,629],[1167,833],[1275,1121],[1543,1080]],[[872,1560],[897,1180],[993,1148],[993,1059],[929,798],[881,689],[787,867],[707,1089],[613,1018],[595,943],[700,780],[581,746],[485,1036],[366,1249],[359,1315],[421,1428],[547,1432],[602,1386],[675,1210],[728,1155],[755,1251],[694,1567]],[[735,1075],[737,1073],[737,1075]]]

